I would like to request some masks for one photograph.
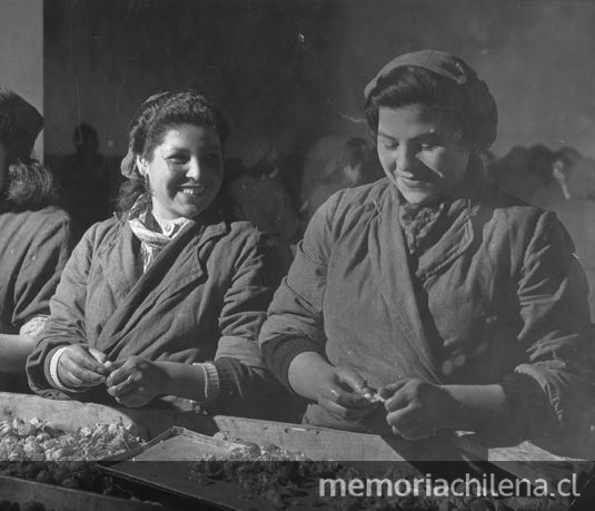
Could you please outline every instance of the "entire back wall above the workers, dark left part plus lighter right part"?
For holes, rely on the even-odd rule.
[[[595,156],[595,2],[558,0],[46,0],[46,154],[79,122],[126,150],[149,95],[196,87],[229,117],[228,154],[271,137],[303,153],[323,135],[367,135],[361,90],[393,56],[462,56],[498,99],[494,150],[543,143]]]

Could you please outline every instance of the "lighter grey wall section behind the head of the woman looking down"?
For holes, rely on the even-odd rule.
[[[347,116],[397,55],[423,48],[460,56],[488,83],[499,110],[503,156],[512,146],[575,146],[595,156],[595,2],[578,0],[398,0],[346,2],[341,82]]]

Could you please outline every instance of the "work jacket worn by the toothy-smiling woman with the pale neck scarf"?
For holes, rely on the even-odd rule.
[[[267,415],[274,392],[257,338],[282,268],[268,239],[247,223],[190,223],[142,274],[128,222],[93,225],[75,248],[27,372],[48,397],[111,402],[105,386],[65,394],[48,382],[60,346],[88,343],[111,361],[207,362],[218,368],[215,410]]]

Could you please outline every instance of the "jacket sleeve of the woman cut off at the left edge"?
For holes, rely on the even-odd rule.
[[[14,282],[12,324],[20,328],[36,316],[49,314],[49,302],[71,249],[70,219],[48,217],[31,244]]]

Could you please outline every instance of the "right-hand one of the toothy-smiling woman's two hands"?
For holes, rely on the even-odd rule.
[[[168,394],[169,375],[159,365],[140,356],[110,364],[106,381],[108,393],[125,406],[143,406],[155,397]]]

